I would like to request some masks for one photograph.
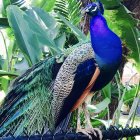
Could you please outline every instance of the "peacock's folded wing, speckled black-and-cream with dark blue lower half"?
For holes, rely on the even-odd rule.
[[[55,126],[67,116],[90,82],[96,69],[90,43],[76,48],[64,61],[53,86],[52,113]]]

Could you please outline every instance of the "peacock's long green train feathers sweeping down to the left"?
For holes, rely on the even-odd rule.
[[[53,129],[51,100],[54,58],[39,62],[18,77],[5,98],[0,113],[0,133],[15,136],[26,129],[28,134]]]

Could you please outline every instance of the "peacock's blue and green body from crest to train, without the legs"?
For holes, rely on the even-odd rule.
[[[62,62],[40,61],[13,82],[0,108],[1,136],[54,131],[90,93],[112,80],[121,63],[121,40],[108,27],[101,2],[84,11],[91,16],[91,42],[71,49]]]

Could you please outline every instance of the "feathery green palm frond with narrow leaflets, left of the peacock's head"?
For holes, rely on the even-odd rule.
[[[70,24],[78,27],[81,20],[80,7],[81,2],[77,0],[56,0],[54,11],[62,15]],[[78,43],[78,38],[71,32],[71,28],[58,15],[56,19],[61,24],[60,32],[66,33],[65,46]]]

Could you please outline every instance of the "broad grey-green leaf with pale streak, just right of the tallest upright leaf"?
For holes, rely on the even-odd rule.
[[[42,17],[40,18],[39,15],[41,15],[42,10],[39,8],[35,8],[35,11],[34,11],[33,9],[29,9],[26,12],[28,15],[32,16],[32,19],[30,18],[30,20],[28,20],[28,26],[36,34],[38,41],[41,44],[48,46],[52,55],[61,53],[61,50],[59,49],[59,47],[56,46],[56,44],[53,40],[54,37],[56,37],[56,35],[58,34],[58,27],[57,26],[55,27],[56,22],[53,20],[53,18],[50,17],[50,15],[45,14],[45,13],[42,14]],[[36,13],[36,11],[37,11],[37,13]],[[40,13],[40,14],[38,15],[38,13]],[[43,17],[43,15],[44,15],[44,17]],[[27,20],[27,18],[29,18],[29,17],[26,16],[26,20]],[[51,28],[50,28],[51,23],[47,19],[52,20],[53,26]]]

